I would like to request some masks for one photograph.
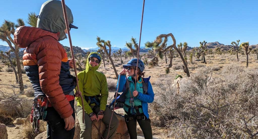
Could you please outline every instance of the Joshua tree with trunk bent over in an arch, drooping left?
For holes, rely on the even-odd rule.
[[[172,38],[173,44],[165,47],[166,46],[165,44],[168,41],[168,37]],[[182,55],[181,51],[176,47],[176,39],[175,39],[175,37],[173,36],[172,33],[160,34],[159,36],[156,37],[156,40],[154,40],[154,42],[152,42],[151,45],[149,43],[147,43],[147,44],[148,45],[145,44],[145,47],[147,47],[147,48],[152,47],[152,48],[154,48],[154,51],[158,52],[159,54],[161,54],[161,53],[163,53],[165,51],[168,51],[171,48],[174,48],[176,50],[176,52],[178,53],[178,55],[180,56],[180,58],[181,58],[181,60],[182,60],[182,62],[184,64],[184,66],[183,66],[184,72],[186,73],[186,75],[188,77],[190,77],[190,73],[189,73],[189,70],[188,70],[185,58]]]

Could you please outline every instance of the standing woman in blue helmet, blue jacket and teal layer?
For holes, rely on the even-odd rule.
[[[131,59],[119,73],[118,92],[123,92],[118,102],[124,103],[125,121],[130,139],[137,139],[136,125],[140,125],[145,139],[152,139],[151,120],[148,114],[148,103],[154,100],[154,93],[149,78],[143,78],[145,66],[138,61],[138,73],[136,74],[137,59]],[[126,73],[128,78],[126,78]],[[137,78],[138,77],[138,78]],[[135,88],[136,83],[136,90]],[[118,82],[117,82],[118,87]]]

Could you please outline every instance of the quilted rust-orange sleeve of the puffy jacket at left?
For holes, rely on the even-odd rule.
[[[73,110],[59,85],[61,61],[66,52],[58,41],[51,38],[46,38],[40,45],[36,53],[41,89],[61,118],[67,118]]]

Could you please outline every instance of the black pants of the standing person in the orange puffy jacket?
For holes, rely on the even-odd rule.
[[[70,101],[70,104],[73,109],[72,116],[75,119],[74,100]],[[54,107],[48,107],[46,111],[47,114],[44,120],[47,121],[47,139],[73,139],[75,128],[69,131],[65,130],[65,122],[55,111]]]

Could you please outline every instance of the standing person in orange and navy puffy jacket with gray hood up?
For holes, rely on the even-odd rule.
[[[66,6],[69,28],[73,23]],[[60,40],[66,39],[67,28],[61,1],[46,1],[40,10],[37,27],[21,26],[14,35],[15,44],[26,48],[23,65],[35,96],[45,94],[47,138],[72,139],[75,131],[75,78],[70,74],[67,53]],[[43,102],[43,106],[47,101]]]

